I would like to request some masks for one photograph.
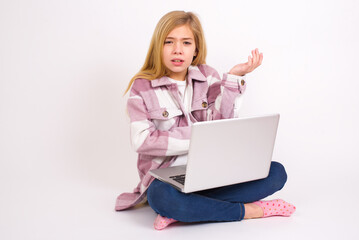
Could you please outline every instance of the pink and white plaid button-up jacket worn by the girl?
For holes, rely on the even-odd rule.
[[[149,170],[170,166],[178,155],[186,154],[192,122],[237,117],[244,77],[224,74],[208,65],[188,68],[191,109],[185,111],[177,84],[167,77],[149,81],[136,79],[127,102],[131,120],[131,141],[138,152],[140,183],[132,193],[117,197],[116,210],[146,201],[146,190],[153,181]]]

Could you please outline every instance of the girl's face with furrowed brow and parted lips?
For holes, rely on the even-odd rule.
[[[162,60],[169,70],[169,77],[185,80],[187,69],[196,56],[196,43],[188,25],[174,28],[163,45]]]

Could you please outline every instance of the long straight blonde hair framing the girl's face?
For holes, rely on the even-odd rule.
[[[192,12],[172,11],[164,15],[157,23],[153,32],[150,47],[147,52],[145,63],[141,70],[133,76],[125,94],[131,88],[132,83],[137,78],[154,80],[168,75],[168,70],[162,61],[163,45],[168,34],[176,27],[188,25],[194,35],[196,44],[196,57],[194,57],[191,65],[199,65],[206,63],[207,47],[204,39],[203,29],[198,17]]]

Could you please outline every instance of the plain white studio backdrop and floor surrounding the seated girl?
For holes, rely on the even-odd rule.
[[[273,197],[291,218],[177,224],[115,212],[138,182],[124,90],[154,27],[197,13],[221,74],[256,47],[243,114],[279,112]],[[354,239],[359,211],[358,1],[0,1],[1,239]],[[132,235],[131,235],[132,234]]]

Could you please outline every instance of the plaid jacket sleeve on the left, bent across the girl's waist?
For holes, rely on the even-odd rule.
[[[156,129],[143,98],[144,92],[152,90],[149,84],[143,83],[145,81],[134,82],[127,101],[133,148],[140,154],[152,156],[175,156],[187,153],[191,127],[174,127],[169,131]]]

